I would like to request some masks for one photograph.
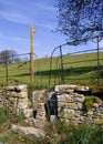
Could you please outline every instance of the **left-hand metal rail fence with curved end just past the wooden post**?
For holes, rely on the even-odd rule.
[[[12,58],[12,59],[11,59]],[[31,53],[16,54],[11,56],[0,56],[0,86],[17,84],[33,84],[37,88],[47,88],[49,81],[43,80],[44,64],[49,68],[47,59],[38,59],[33,54],[33,69],[31,69]],[[33,79],[32,82],[32,71]],[[47,73],[47,72],[45,72]],[[47,76],[49,79],[49,74]]]

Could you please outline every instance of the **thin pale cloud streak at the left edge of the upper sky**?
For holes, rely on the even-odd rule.
[[[4,19],[12,22],[29,24],[31,20],[22,13],[11,11],[0,11],[0,19]]]

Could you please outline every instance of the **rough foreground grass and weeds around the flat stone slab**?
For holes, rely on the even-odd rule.
[[[70,125],[66,122],[56,121],[48,123],[45,137],[33,137],[33,135],[20,135],[11,131],[11,124],[22,125],[23,115],[6,117],[4,109],[0,109],[0,142],[3,144],[102,144],[103,125]],[[95,140],[95,141],[94,141]]]

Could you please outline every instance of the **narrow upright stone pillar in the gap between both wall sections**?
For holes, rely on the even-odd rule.
[[[47,90],[41,90],[41,91],[33,91],[32,94],[32,102],[33,102],[33,110],[37,111],[35,114],[35,127],[43,128],[47,124],[47,113],[44,109],[44,104],[48,101],[48,94]]]

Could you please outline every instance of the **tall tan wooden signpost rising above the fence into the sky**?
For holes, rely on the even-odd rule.
[[[33,33],[35,32],[35,29],[31,25],[30,28],[30,44],[31,44],[31,53],[30,53],[30,76],[31,76],[31,83],[33,83],[34,79],[34,52],[33,52]]]

